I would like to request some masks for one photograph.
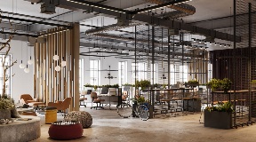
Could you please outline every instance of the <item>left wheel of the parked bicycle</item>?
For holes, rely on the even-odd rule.
[[[132,106],[129,104],[122,104],[117,107],[117,114],[123,118],[128,118],[132,116]]]

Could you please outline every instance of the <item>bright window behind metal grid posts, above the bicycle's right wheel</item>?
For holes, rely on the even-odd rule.
[[[137,63],[136,79],[147,80],[147,63]],[[132,63],[132,83],[135,83],[135,63]]]

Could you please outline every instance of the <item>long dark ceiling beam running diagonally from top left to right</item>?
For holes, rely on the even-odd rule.
[[[82,3],[82,2],[84,2],[84,1],[81,1],[79,3]],[[95,3],[93,3],[93,4],[95,4]],[[144,24],[147,23],[150,25],[160,26],[160,27],[164,27],[164,28],[186,30],[191,33],[196,33],[196,34],[204,35],[204,36],[210,36],[212,38],[218,38],[218,39],[226,40],[226,41],[233,42],[233,40],[234,40],[233,35],[230,35],[227,33],[221,33],[221,32],[218,32],[218,31],[212,30],[212,29],[191,26],[191,25],[188,25],[188,24],[185,24],[185,23],[182,23],[179,21],[175,21],[175,20],[163,20],[160,18],[146,15],[146,14],[134,15],[134,14],[129,14],[129,12],[124,14],[123,12],[109,11],[107,9],[100,8],[100,7],[104,7],[103,4],[99,4],[99,5],[97,5],[97,7],[95,7],[92,5],[84,5],[84,4],[78,4],[78,3],[68,2],[68,1],[60,1],[57,6],[69,8],[72,10],[74,10],[74,8],[76,8],[76,10],[80,9],[80,10],[86,10],[86,11],[91,11],[91,12],[104,13],[109,16],[113,16],[115,18],[122,19],[122,20],[132,20],[135,22],[144,23]],[[122,10],[122,9],[119,9],[119,10]],[[236,43],[239,43],[239,42],[241,42],[241,37],[236,36]]]

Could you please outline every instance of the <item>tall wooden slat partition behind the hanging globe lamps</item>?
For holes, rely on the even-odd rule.
[[[61,28],[48,29],[48,33]],[[45,102],[55,102],[72,98],[67,111],[79,110],[79,25],[74,24],[72,29],[44,36],[45,43],[36,43],[34,92],[37,99]],[[41,37],[42,38],[42,37]],[[59,55],[59,60],[53,56]],[[66,67],[61,67],[62,60],[67,61]],[[60,66],[59,72],[55,71]]]

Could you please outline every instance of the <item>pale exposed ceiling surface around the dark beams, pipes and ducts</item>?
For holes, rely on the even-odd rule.
[[[222,17],[227,17],[232,15],[232,6],[233,6],[233,0],[193,0],[188,1],[186,4],[190,6],[190,8],[193,9],[195,7],[196,12],[195,13],[188,13],[188,16],[180,15],[180,12],[186,12],[184,9],[175,8],[172,5],[172,8],[159,8],[156,10],[152,10],[150,12],[141,12],[141,14],[144,14],[144,17],[146,17],[145,20],[141,20],[140,17],[136,18],[136,13],[138,9],[145,9],[149,8],[151,6],[157,6],[157,4],[169,4],[174,3],[175,1],[179,0],[87,0],[87,1],[81,1],[78,0],[78,2],[81,3],[95,3],[100,4],[102,6],[111,6],[115,7],[117,10],[124,10],[126,12],[133,12],[133,15],[131,16],[131,20],[124,20],[126,14],[120,13],[118,16],[118,12],[108,12],[106,9],[101,9],[100,12],[97,11],[99,9],[99,6],[95,6],[92,9],[92,6],[83,5],[83,4],[77,4],[72,3],[70,1],[61,0],[60,4],[56,5],[55,13],[53,14],[45,14],[40,12],[40,6],[42,3],[39,4],[32,4],[31,2],[40,2],[41,0],[0,0],[0,10],[2,12],[2,15],[5,17],[11,17],[16,18],[19,20],[13,21],[14,25],[16,25],[16,28],[18,28],[17,32],[23,33],[23,34],[29,34],[36,35],[37,32],[45,30],[47,28],[52,28],[53,24],[55,26],[63,26],[68,23],[72,22],[79,22],[81,27],[81,47],[100,47],[101,50],[105,50],[105,48],[111,48],[116,47],[116,51],[134,51],[134,38],[135,38],[135,27],[130,26],[127,27],[127,23],[130,22],[130,25],[132,23],[136,23],[137,25],[137,47],[139,48],[139,51],[145,52],[145,54],[148,54],[147,51],[150,51],[152,48],[152,43],[148,43],[148,35],[149,40],[152,39],[152,27],[150,26],[148,28],[148,25],[151,23],[145,22],[150,17],[152,19],[152,16],[156,17],[156,20],[163,20],[162,23],[158,23],[156,25],[155,29],[155,43],[156,43],[156,53],[161,53],[167,51],[168,47],[168,38],[167,33],[168,29],[166,26],[164,26],[164,21],[170,21],[174,20],[177,23],[188,23],[187,26],[194,25],[198,28],[205,28],[202,29],[202,33],[205,33],[206,28],[208,29],[215,29],[218,30],[219,28],[228,28],[232,24],[230,23],[230,19],[220,20]],[[44,2],[48,2],[51,0],[42,0]],[[41,2],[42,2],[41,1]],[[54,4],[57,1],[52,3]],[[75,0],[76,1],[76,0]],[[76,1],[77,2],[77,1]],[[151,2],[151,3],[148,3]],[[153,3],[154,2],[154,3]],[[186,6],[184,4],[183,6]],[[180,4],[181,6],[182,4]],[[176,6],[179,6],[176,5]],[[182,7],[182,6],[181,6]],[[84,10],[84,9],[88,10]],[[139,12],[139,11],[138,11]],[[168,15],[169,16],[166,16]],[[117,15],[117,16],[116,16]],[[171,15],[171,16],[170,16]],[[178,16],[177,16],[178,15]],[[129,15],[128,15],[129,16]],[[182,17],[179,17],[182,16]],[[143,17],[143,15],[142,15]],[[116,26],[117,20],[116,18],[123,19],[121,23],[123,24],[123,27]],[[134,20],[133,20],[134,18]],[[21,20],[22,19],[22,20]],[[216,20],[215,20],[216,19]],[[31,21],[29,21],[31,20]],[[153,19],[152,19],[153,20]],[[38,22],[39,23],[38,23]],[[139,22],[138,22],[139,21]],[[140,22],[141,21],[141,22]],[[44,22],[44,23],[43,23]],[[48,23],[48,24],[47,24]],[[52,24],[52,25],[51,25]],[[126,25],[125,25],[126,24]],[[146,24],[146,25],[145,25]],[[157,24],[157,23],[156,23]],[[161,26],[161,24],[163,24]],[[110,29],[107,29],[105,27],[111,27]],[[177,26],[177,24],[176,24]],[[8,25],[8,18],[3,19],[2,23],[0,23],[0,28],[4,31],[9,31],[10,26]],[[85,35],[85,32],[94,30],[94,29],[100,29],[102,28],[102,31],[99,33],[91,34],[91,35]],[[162,32],[163,29],[163,32]],[[104,30],[104,31],[103,31]],[[193,29],[194,30],[194,29]],[[223,49],[224,47],[220,46],[212,46],[210,45],[211,42],[221,42],[225,44],[231,44],[231,42],[228,42],[228,40],[220,40],[220,39],[212,39],[204,34],[196,34],[193,32],[189,32],[188,30],[180,30],[182,33],[184,33],[184,41],[180,42],[180,32],[179,30],[171,29],[172,35],[171,36],[171,46],[172,48],[172,54],[177,55],[182,52],[182,47],[180,44],[183,44],[185,46],[185,53],[188,53],[192,47],[194,48],[205,48],[210,47],[208,50],[218,50]],[[230,34],[229,32],[231,30],[226,31],[226,33]],[[199,32],[199,30],[198,30]],[[207,31],[208,32],[208,31]],[[148,34],[149,33],[149,34]],[[232,34],[231,34],[232,35]],[[4,37],[4,34],[0,34],[0,37]],[[196,38],[197,41],[193,42],[193,39]],[[205,39],[206,38],[206,39]],[[19,38],[17,38],[19,39]],[[20,39],[24,39],[20,38]],[[26,38],[25,38],[26,39]],[[199,43],[199,40],[206,40],[207,43]],[[230,36],[230,39],[231,36]],[[93,46],[92,46],[93,45]],[[228,49],[228,46],[227,46]]]

